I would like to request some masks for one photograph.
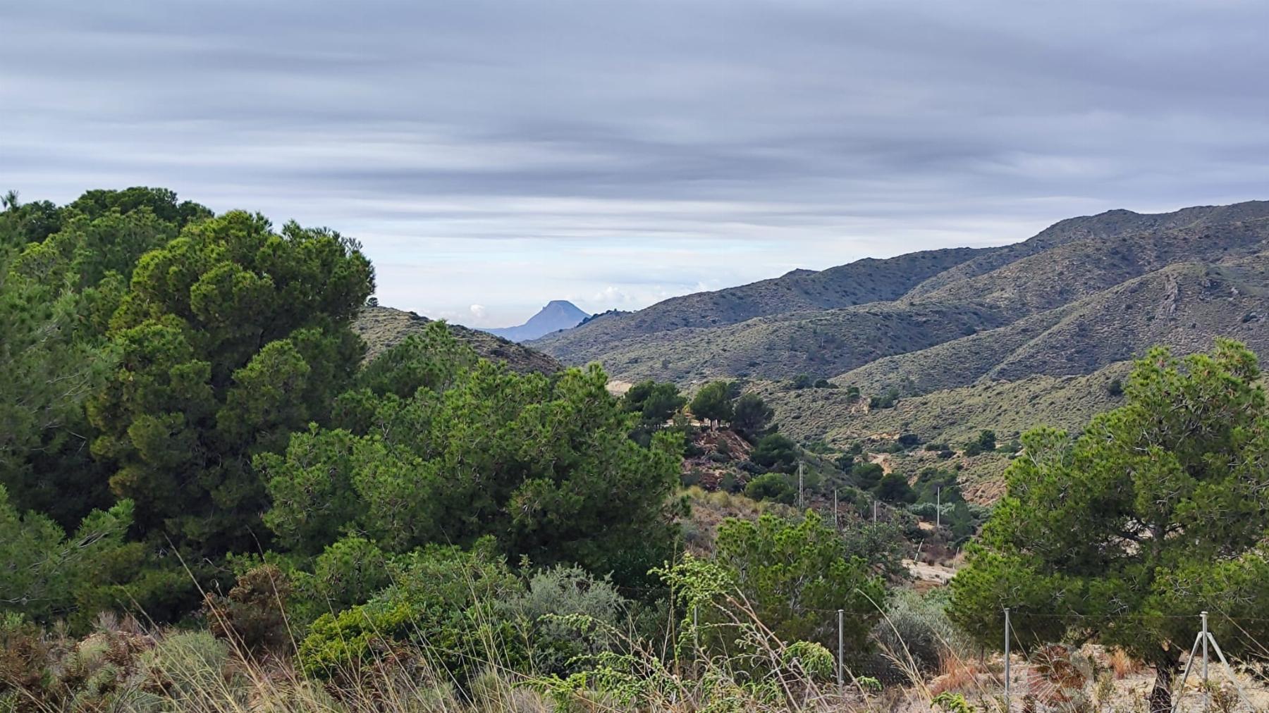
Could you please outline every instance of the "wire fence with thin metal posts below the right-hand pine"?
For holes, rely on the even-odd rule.
[[[832,629],[839,642],[845,638],[850,612],[811,612],[824,617],[824,628]],[[1138,644],[1154,646],[1170,660],[1161,676],[1169,693],[1165,709],[1269,710],[1269,642],[1255,636],[1256,631],[1269,631],[1269,617],[1228,617],[1213,610],[1148,619],[1166,623],[1143,629]],[[1053,624],[1044,627],[1047,631],[1066,636],[1056,641],[1038,638],[1032,625],[1037,620]],[[882,617],[865,650],[851,651],[840,643],[834,650],[836,676],[844,694],[879,695],[900,688],[926,699],[959,695],[980,710],[1152,713],[1160,705],[1152,699],[1160,683],[1157,661],[1147,662],[1132,651],[1100,643],[1115,638],[1100,636],[1104,627],[1137,627],[1142,620],[1133,615],[1003,609],[997,633],[970,638],[949,625],[924,622],[923,631],[910,619]],[[983,643],[991,638],[996,639],[994,644]]]

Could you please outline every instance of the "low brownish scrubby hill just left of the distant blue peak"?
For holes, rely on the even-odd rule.
[[[391,307],[367,307],[353,322],[353,331],[365,340],[367,359],[373,359],[379,351],[397,344],[410,334],[421,331],[430,321],[414,312]],[[516,372],[553,374],[563,368],[553,358],[514,341],[459,325],[448,326],[450,334],[471,345],[477,354],[494,362],[506,362]]]

